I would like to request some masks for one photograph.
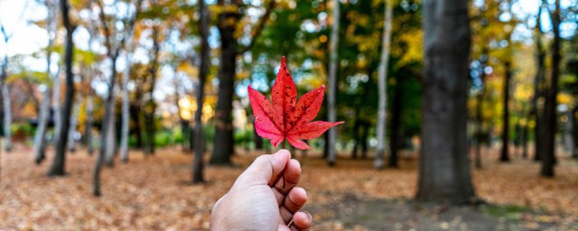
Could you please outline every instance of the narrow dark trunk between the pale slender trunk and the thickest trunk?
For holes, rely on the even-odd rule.
[[[402,109],[402,81],[403,77],[397,76],[396,92],[394,94],[394,102],[391,115],[391,134],[389,135],[389,162],[387,167],[397,168],[399,143],[401,141],[401,109]]]

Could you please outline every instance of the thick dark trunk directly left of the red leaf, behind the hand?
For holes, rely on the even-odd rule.
[[[210,164],[230,165],[231,153],[234,152],[233,125],[231,111],[234,92],[235,64],[238,55],[237,38],[235,37],[237,12],[219,14],[219,33],[221,42],[219,66],[219,101],[215,113],[215,145],[210,157]]]

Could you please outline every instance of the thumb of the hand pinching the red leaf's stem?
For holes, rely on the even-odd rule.
[[[291,153],[279,150],[274,154],[260,155],[255,159],[239,180],[248,180],[245,183],[268,184],[272,186],[283,173],[287,162],[291,160]]]

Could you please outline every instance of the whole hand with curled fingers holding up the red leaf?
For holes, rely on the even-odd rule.
[[[307,201],[305,189],[296,187],[300,179],[301,165],[289,151],[257,157],[215,203],[210,230],[309,230],[312,217],[300,211]]]

